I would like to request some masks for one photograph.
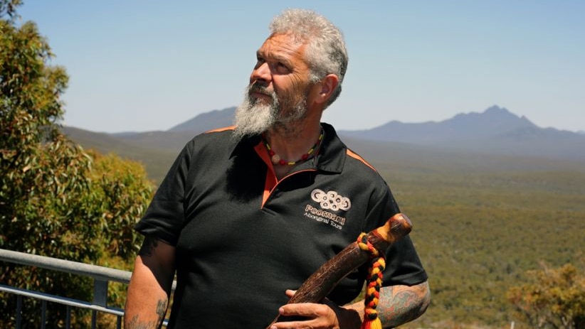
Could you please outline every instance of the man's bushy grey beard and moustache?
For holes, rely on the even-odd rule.
[[[283,112],[280,110],[280,101],[276,93],[274,91],[268,93],[273,99],[269,104],[253,99],[250,96],[250,86],[246,87],[244,99],[236,109],[234,138],[259,135],[275,126],[287,131],[288,134],[294,133],[295,123],[300,122],[307,114],[307,96],[304,95],[302,101]]]

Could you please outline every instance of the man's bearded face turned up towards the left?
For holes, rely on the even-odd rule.
[[[305,117],[311,84],[304,52],[305,43],[287,34],[270,36],[258,49],[250,85],[236,110],[236,131],[259,134]]]

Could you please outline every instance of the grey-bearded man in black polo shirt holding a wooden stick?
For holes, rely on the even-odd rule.
[[[157,328],[176,271],[169,328],[359,328],[367,266],[324,303],[286,304],[327,259],[399,212],[374,168],[320,122],[347,68],[340,31],[312,11],[273,20],[236,126],[196,136],[137,230],[125,328]],[[379,318],[408,322],[428,306],[409,237],[387,255]],[[286,304],[286,305],[285,305]]]

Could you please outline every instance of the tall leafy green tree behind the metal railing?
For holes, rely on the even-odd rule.
[[[144,168],[118,156],[88,153],[61,134],[64,68],[49,65],[51,48],[36,25],[15,21],[19,0],[0,0],[0,248],[130,269],[132,227],[151,197]],[[0,282],[90,301],[92,281],[0,263]],[[111,287],[123,303],[125,288]],[[14,297],[14,296],[11,296]],[[39,306],[25,303],[23,312]],[[0,294],[0,327],[14,328],[16,298]],[[64,307],[48,313],[63,328]],[[73,318],[84,328],[84,314]],[[26,316],[23,328],[39,328]]]

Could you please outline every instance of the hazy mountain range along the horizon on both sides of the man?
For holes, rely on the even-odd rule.
[[[70,126],[63,131],[85,149],[141,161],[159,180],[187,141],[201,132],[232,125],[235,110],[228,107],[199,114],[167,131],[107,134]],[[585,134],[542,128],[497,105],[441,122],[391,121],[372,129],[339,130],[338,134],[348,146],[374,162],[397,153],[427,162],[450,156],[469,158],[470,154],[481,156],[485,163],[490,162],[490,156],[585,161]]]

